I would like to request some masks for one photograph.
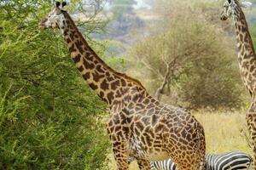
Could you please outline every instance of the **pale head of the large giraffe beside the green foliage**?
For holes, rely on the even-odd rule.
[[[56,2],[55,6],[49,12],[48,17],[41,20],[39,27],[43,30],[47,28],[60,28],[62,25],[61,20],[64,19],[61,11],[63,11],[65,5],[67,5],[66,2]]]

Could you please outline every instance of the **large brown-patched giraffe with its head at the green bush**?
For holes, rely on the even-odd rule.
[[[161,104],[142,83],[114,71],[90,48],[64,9],[55,3],[41,29],[57,28],[85,82],[108,104],[107,130],[118,170],[128,169],[128,156],[140,169],[149,170],[149,161],[172,158],[181,170],[204,167],[204,129],[189,111]]]

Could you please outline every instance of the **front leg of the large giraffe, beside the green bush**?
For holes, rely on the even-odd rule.
[[[118,170],[128,170],[129,164],[128,164],[128,156],[127,156],[127,150],[125,147],[125,142],[113,142],[112,144],[113,148],[113,156],[117,163],[117,169]]]

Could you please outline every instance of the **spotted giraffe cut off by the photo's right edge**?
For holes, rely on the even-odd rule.
[[[250,5],[249,2],[241,3],[239,0],[227,0],[224,2],[224,10],[220,19],[227,20],[232,17],[235,25],[241,79],[251,96],[251,105],[247,111],[246,119],[253,145],[253,169],[256,170],[256,55],[247,20],[241,9],[248,5]]]

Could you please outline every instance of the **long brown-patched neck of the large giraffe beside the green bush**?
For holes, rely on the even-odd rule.
[[[108,105],[112,105],[113,99],[123,96],[125,88],[143,88],[137,80],[114,71],[105,64],[90,48],[70,15],[66,11],[61,12],[63,19],[60,22],[60,29],[67,42],[71,57],[84,80],[100,98]]]

